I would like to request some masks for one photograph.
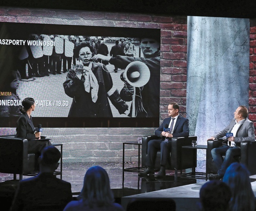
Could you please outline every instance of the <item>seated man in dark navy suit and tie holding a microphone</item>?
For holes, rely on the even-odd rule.
[[[148,142],[148,157],[146,161],[147,168],[140,176],[154,174],[154,165],[156,153],[161,151],[161,169],[155,177],[165,176],[165,166],[167,164],[169,153],[171,151],[171,138],[188,137],[189,136],[189,120],[179,115],[180,106],[178,103],[170,103],[168,105],[168,118],[165,118],[162,125],[155,131],[155,135],[162,139],[150,140]],[[165,131],[166,126],[170,129]]]

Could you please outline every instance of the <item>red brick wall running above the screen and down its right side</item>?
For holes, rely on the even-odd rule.
[[[0,22],[116,26],[161,29],[160,119],[167,117],[167,105],[176,101],[186,112],[187,17],[129,13],[0,8]]]

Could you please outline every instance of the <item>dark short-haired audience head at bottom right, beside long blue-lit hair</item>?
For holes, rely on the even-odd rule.
[[[200,189],[200,211],[228,211],[228,203],[231,198],[230,188],[226,183],[213,180]]]

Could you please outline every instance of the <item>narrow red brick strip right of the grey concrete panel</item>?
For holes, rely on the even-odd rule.
[[[250,20],[249,119],[256,128],[256,20]]]

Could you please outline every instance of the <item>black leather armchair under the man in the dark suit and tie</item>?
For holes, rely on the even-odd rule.
[[[160,139],[158,136],[142,136],[142,151],[141,151],[141,164],[146,166],[148,142],[153,139]],[[171,139],[171,152],[170,159],[166,166],[166,169],[175,170],[174,180],[177,180],[178,170],[182,172],[183,169],[192,168],[192,172],[195,172],[197,166],[196,150],[182,148],[182,146],[191,145],[192,140],[197,140],[197,136],[189,136],[188,138],[176,137]],[[156,162],[154,168],[160,169],[160,151],[157,152]]]

